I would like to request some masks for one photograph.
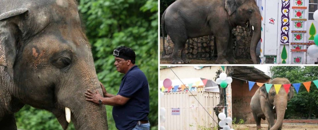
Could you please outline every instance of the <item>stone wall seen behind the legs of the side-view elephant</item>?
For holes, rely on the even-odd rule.
[[[233,54],[236,58],[250,58],[250,42],[252,31],[249,28],[245,29],[243,27],[237,26],[232,30],[234,38],[233,43]],[[189,59],[206,59],[210,60],[214,55],[217,56],[215,45],[214,45],[214,35],[204,36],[200,38],[190,38],[185,44],[186,54]],[[164,49],[166,49],[166,58],[171,57],[174,44],[168,36]]]

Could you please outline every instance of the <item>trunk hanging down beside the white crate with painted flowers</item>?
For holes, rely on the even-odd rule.
[[[256,46],[259,42],[260,36],[261,36],[261,21],[259,20],[250,20],[250,23],[252,25],[253,35],[251,40],[251,46],[250,46],[250,54],[253,61],[253,64],[257,64],[256,60]]]

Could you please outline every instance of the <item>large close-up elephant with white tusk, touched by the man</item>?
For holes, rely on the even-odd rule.
[[[24,104],[63,129],[72,119],[78,130],[107,130],[105,106],[86,101],[87,89],[102,93],[76,1],[1,0],[0,130],[17,129]]]

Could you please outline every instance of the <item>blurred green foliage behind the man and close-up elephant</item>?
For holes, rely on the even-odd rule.
[[[150,86],[149,121],[158,129],[158,1],[80,0],[79,12],[92,44],[96,72],[108,93],[116,94],[123,74],[114,67],[113,50],[128,46],[136,53],[136,65],[146,74]],[[112,106],[106,106],[110,130],[115,130]],[[55,116],[45,110],[24,106],[15,114],[23,130],[62,130]],[[68,130],[74,130],[71,123]]]

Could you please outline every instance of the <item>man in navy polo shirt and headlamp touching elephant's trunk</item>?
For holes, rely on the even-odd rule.
[[[97,90],[87,90],[86,100],[114,106],[113,117],[119,130],[149,130],[149,85],[145,74],[135,65],[135,52],[121,46],[114,50],[113,55],[117,71],[125,74],[117,95],[107,93],[100,84],[104,97]]]

